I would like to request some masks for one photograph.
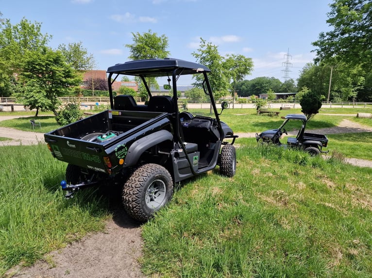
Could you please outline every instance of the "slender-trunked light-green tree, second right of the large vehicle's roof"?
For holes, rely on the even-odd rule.
[[[232,96],[234,108],[235,86],[238,81],[242,81],[246,75],[252,73],[253,61],[244,55],[227,55],[224,61],[224,68],[227,69],[230,80],[232,80]]]

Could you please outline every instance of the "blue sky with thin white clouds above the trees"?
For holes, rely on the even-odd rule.
[[[125,44],[132,32],[165,34],[170,57],[195,61],[200,38],[218,46],[221,55],[252,58],[246,79],[275,77],[284,82],[289,48],[290,78],[296,79],[315,54],[312,42],[326,23],[332,0],[0,0],[3,18],[22,17],[42,24],[52,48],[82,42],[106,70],[128,61]],[[188,82],[188,81],[186,81]],[[192,82],[190,80],[190,82]],[[180,84],[189,85],[189,84]]]

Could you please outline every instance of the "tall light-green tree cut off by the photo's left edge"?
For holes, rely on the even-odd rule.
[[[27,51],[38,51],[51,40],[41,32],[41,23],[25,18],[15,25],[9,19],[0,21],[0,95],[14,93],[20,63]]]

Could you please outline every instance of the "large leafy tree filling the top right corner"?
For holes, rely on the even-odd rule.
[[[321,32],[313,43],[316,62],[336,59],[372,70],[372,2],[370,0],[334,0],[327,23],[333,29]]]

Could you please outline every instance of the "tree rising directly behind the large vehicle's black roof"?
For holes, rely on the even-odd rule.
[[[133,33],[133,44],[126,44],[125,47],[129,48],[131,60],[151,59],[160,58],[164,59],[169,57],[170,52],[168,48],[168,37],[166,35],[158,36],[157,33],[153,33],[150,29],[148,32],[140,34],[139,32]],[[141,98],[147,98],[148,94],[146,88],[142,84],[142,79],[135,78],[138,82],[138,89]],[[146,78],[147,85],[149,88],[159,88],[154,77]]]

